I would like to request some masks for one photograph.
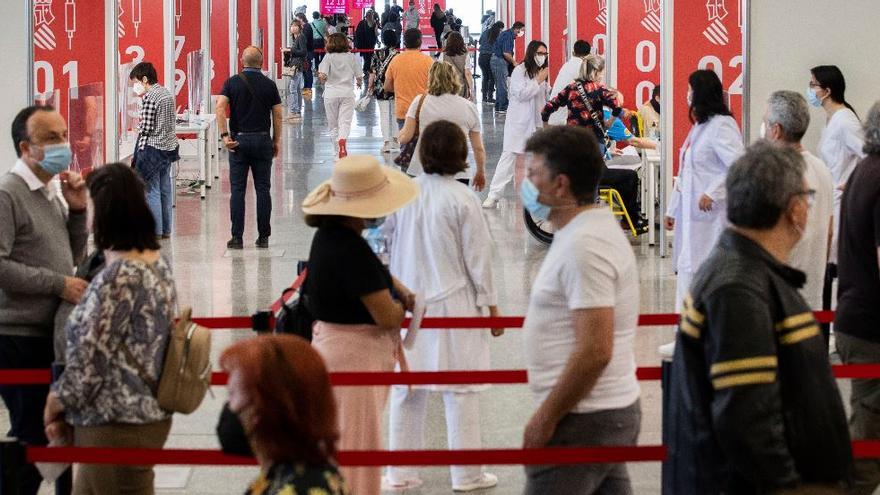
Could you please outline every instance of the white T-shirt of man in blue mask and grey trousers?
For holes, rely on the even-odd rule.
[[[584,211],[556,232],[532,284],[523,325],[529,388],[541,403],[575,347],[571,312],[614,309],[611,361],[572,413],[622,409],[639,398],[633,338],[639,274],[632,247],[607,208]]]

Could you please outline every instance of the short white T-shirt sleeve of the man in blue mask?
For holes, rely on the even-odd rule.
[[[618,272],[614,252],[607,247],[587,243],[567,258],[560,273],[569,310],[615,306]]]

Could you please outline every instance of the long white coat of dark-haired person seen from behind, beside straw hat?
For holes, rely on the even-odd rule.
[[[389,216],[391,273],[425,296],[426,316],[483,316],[498,302],[492,268],[493,243],[480,200],[452,177],[425,174],[418,199]],[[423,330],[405,350],[412,371],[486,370],[489,331]],[[484,385],[427,386],[470,392]]]

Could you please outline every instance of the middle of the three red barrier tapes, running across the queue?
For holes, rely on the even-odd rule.
[[[834,376],[848,378],[880,378],[880,364],[837,365],[831,367]],[[48,385],[49,370],[0,370],[0,385]],[[662,378],[659,366],[636,369],[641,381]],[[211,374],[211,385],[226,385],[226,373]],[[344,372],[330,373],[330,383],[337,387],[388,385],[522,385],[528,383],[526,370],[483,371],[408,371],[408,372]]]

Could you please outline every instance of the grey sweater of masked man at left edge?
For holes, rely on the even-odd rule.
[[[18,175],[0,177],[0,335],[52,336],[64,277],[88,235],[85,214],[68,214]]]

